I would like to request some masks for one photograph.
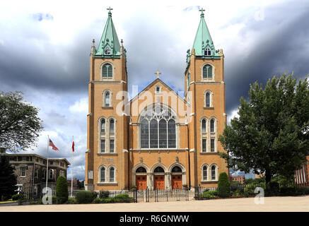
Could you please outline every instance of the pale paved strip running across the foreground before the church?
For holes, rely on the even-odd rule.
[[[266,197],[256,205],[255,198],[230,198],[205,201],[160,203],[110,203],[75,205],[0,206],[0,212],[228,212],[228,211],[309,211],[309,196]]]

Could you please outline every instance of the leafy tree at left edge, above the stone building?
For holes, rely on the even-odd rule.
[[[37,112],[36,107],[23,100],[22,93],[0,92],[0,148],[32,148],[43,129]]]

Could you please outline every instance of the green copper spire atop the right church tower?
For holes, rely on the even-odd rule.
[[[199,28],[197,28],[197,35],[195,35],[192,49],[195,50],[195,56],[203,57],[218,57],[218,51],[214,48],[214,42],[211,39],[209,30],[207,28],[204,13],[201,8],[201,20],[199,21]]]

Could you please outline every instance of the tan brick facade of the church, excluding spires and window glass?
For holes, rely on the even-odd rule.
[[[85,188],[100,191],[129,189],[132,186],[146,186],[150,189],[156,186],[217,186],[218,174],[229,174],[225,161],[218,155],[218,151],[224,151],[218,135],[223,132],[226,124],[222,49],[215,58],[195,56],[192,49],[190,64],[187,64],[185,75],[180,78],[185,81],[184,98],[157,78],[126,102],[121,95],[120,98],[117,97],[119,92],[128,90],[129,76],[124,47],[122,46],[119,57],[98,56],[95,54],[95,47],[92,48],[88,83]],[[112,78],[109,80],[103,77],[105,64],[112,66]],[[205,65],[212,66],[211,79],[202,76]],[[104,103],[106,92],[110,93],[111,99],[108,107]],[[211,93],[210,106],[205,105],[206,92]],[[141,116],[146,112],[146,107],[162,107],[173,113],[176,133],[174,148],[141,147]],[[105,130],[101,128],[103,119]],[[204,131],[203,119],[206,120]],[[214,131],[209,129],[211,119],[214,119]],[[115,124],[115,131],[112,133],[108,132],[110,120]],[[205,141],[204,151],[202,146]],[[115,151],[110,153],[112,142]],[[104,150],[101,150],[101,145],[105,145]]]

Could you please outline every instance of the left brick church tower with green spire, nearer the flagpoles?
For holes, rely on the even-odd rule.
[[[122,107],[122,92],[127,92],[126,50],[119,43],[112,8],[103,35],[90,54],[88,83],[86,190],[118,190],[128,186],[127,117]],[[119,105],[121,106],[121,105]]]

